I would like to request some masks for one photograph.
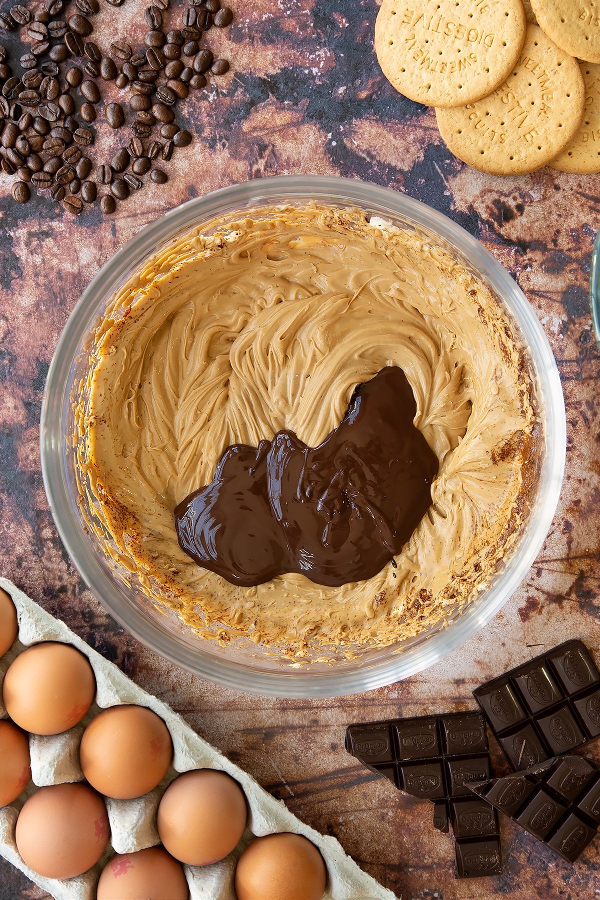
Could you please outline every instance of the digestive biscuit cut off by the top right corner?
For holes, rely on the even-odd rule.
[[[571,56],[600,62],[600,0],[531,0],[538,24]]]

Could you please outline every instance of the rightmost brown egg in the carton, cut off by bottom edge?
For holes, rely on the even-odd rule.
[[[237,900],[321,900],[326,882],[323,857],[301,834],[255,838],[237,860]]]

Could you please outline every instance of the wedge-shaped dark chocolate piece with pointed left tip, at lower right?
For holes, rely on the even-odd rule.
[[[600,825],[600,766],[583,756],[555,756],[471,790],[568,862],[578,859]]]

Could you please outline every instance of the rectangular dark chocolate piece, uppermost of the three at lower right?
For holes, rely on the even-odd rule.
[[[600,671],[581,641],[560,644],[473,694],[516,770],[600,735]]]

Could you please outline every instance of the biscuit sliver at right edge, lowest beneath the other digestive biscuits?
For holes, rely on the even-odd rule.
[[[600,172],[600,63],[582,62],[579,68],[586,85],[583,119],[569,147],[550,165],[560,172],[590,175]]]

